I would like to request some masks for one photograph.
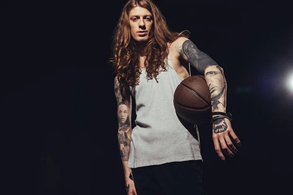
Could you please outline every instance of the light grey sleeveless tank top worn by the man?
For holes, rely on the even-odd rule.
[[[166,63],[167,71],[158,75],[158,83],[146,80],[146,70],[142,69],[139,85],[130,88],[136,103],[136,126],[131,133],[129,168],[202,160],[197,126],[194,137],[180,122],[173,105],[175,89],[183,79],[169,56]]]

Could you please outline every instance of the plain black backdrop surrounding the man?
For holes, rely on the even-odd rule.
[[[292,182],[293,22],[281,1],[154,1],[224,68],[242,146],[221,162],[199,126],[206,195],[285,194]],[[125,194],[107,60],[126,0],[3,1],[0,8],[4,187],[40,195]],[[290,191],[289,191],[290,192]],[[286,193],[287,194],[287,193]]]

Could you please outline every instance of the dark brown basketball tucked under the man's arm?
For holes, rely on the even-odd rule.
[[[182,80],[174,92],[173,102],[177,115],[188,123],[210,122],[210,93],[204,76],[195,75]]]

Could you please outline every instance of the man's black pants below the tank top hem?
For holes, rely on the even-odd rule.
[[[137,195],[203,195],[202,161],[132,168]]]

